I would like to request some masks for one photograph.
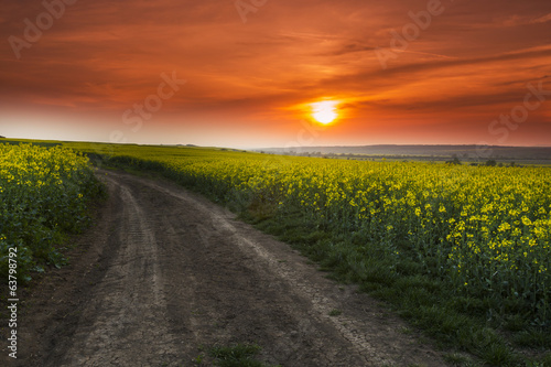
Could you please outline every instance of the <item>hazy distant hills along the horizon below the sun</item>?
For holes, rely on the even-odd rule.
[[[360,145],[291,147],[257,151],[293,155],[348,155],[372,158],[411,158],[441,160],[457,156],[465,161],[543,161],[551,163],[551,147],[480,147],[480,145]]]

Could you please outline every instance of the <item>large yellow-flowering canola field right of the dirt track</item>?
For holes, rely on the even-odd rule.
[[[112,148],[111,148],[112,149]],[[111,162],[151,169],[237,212],[312,228],[549,326],[551,169],[359,162],[193,148],[117,147]],[[360,238],[363,240],[357,240]],[[350,245],[352,246],[352,245]],[[369,251],[368,251],[369,252]],[[372,251],[371,251],[372,252]],[[367,262],[343,257],[359,280]],[[400,267],[391,269],[397,274]]]

